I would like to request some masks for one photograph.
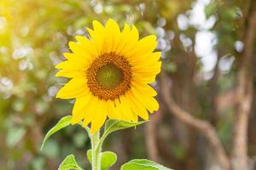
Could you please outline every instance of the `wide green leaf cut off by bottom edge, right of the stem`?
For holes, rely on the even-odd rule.
[[[146,159],[135,159],[125,163],[121,170],[171,170],[154,161]]]

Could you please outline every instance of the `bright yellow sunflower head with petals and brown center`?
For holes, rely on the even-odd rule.
[[[102,127],[107,117],[137,122],[148,120],[148,111],[159,109],[156,92],[149,83],[160,72],[160,52],[154,52],[156,37],[139,40],[135,26],[109,19],[106,26],[96,20],[93,30],[86,28],[90,39],[76,36],[69,42],[72,53],[55,68],[56,77],[72,78],[60,89],[57,98],[75,99],[72,124],[90,123],[91,133]]]

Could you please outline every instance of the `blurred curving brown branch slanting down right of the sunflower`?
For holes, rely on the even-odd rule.
[[[171,96],[171,80],[168,79],[166,74],[162,71],[161,73],[161,83],[160,88],[162,90],[161,94],[166,102],[167,109],[173,116],[176,116],[179,121],[194,127],[196,130],[200,131],[204,135],[209,143],[212,145],[212,149],[215,151],[218,160],[221,164],[221,167],[224,169],[230,169],[230,161],[228,156],[226,156],[223,145],[218,139],[218,134],[216,133],[214,127],[207,122],[200,120],[191,114],[188,111],[184,111],[177,103],[172,99]]]

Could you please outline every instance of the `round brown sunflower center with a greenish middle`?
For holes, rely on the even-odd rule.
[[[102,54],[87,70],[90,92],[100,99],[118,99],[131,87],[131,65],[124,56]]]

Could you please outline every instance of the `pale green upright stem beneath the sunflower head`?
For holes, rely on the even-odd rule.
[[[92,170],[101,170],[101,151],[102,147],[98,147],[100,142],[100,130],[91,134],[91,151],[92,151]]]

